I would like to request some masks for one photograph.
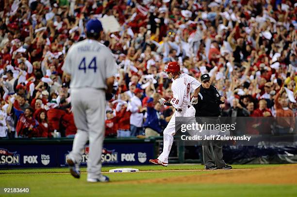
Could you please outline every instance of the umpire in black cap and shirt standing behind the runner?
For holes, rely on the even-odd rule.
[[[202,87],[198,94],[198,103],[194,105],[196,117],[201,117],[201,121],[209,124],[219,124],[221,114],[220,104],[225,103],[225,97],[221,96],[218,90],[211,85],[208,74],[201,77]],[[213,118],[212,118],[213,117]],[[231,169],[223,160],[222,142],[217,140],[203,140],[203,161],[205,169]]]

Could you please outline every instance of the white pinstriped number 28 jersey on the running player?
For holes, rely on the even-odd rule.
[[[185,108],[191,103],[191,91],[196,90],[201,83],[192,76],[185,73],[177,79],[173,79],[171,90],[173,92],[173,98],[170,103],[175,108]]]

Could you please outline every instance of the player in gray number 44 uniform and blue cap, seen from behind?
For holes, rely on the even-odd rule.
[[[82,152],[89,140],[88,182],[109,181],[101,174],[105,96],[112,92],[117,70],[110,49],[98,42],[102,30],[98,19],[90,19],[86,24],[87,39],[69,48],[62,68],[65,75],[71,76],[71,104],[78,129],[67,163],[71,175],[80,178]]]

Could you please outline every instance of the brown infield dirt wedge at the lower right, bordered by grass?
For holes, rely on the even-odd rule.
[[[297,165],[261,167],[245,170],[214,170],[207,174],[142,180],[138,183],[252,183],[297,184]]]

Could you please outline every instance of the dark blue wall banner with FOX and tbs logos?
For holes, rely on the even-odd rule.
[[[65,167],[70,144],[0,145],[1,168]],[[86,166],[89,146],[82,154],[81,166]],[[104,145],[103,166],[145,165],[154,157],[154,143],[112,143]]]

